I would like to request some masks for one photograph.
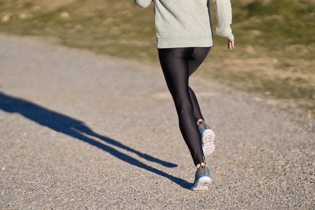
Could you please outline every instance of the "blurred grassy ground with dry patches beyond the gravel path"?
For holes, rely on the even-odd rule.
[[[235,49],[215,36],[198,75],[315,118],[315,0],[231,4]],[[133,0],[0,0],[0,32],[158,65],[152,10]]]

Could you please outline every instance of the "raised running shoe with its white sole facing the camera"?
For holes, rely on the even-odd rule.
[[[215,134],[213,130],[207,125],[204,121],[198,125],[200,134],[201,134],[201,142],[202,142],[202,150],[204,156],[208,156],[214,152],[214,138]]]

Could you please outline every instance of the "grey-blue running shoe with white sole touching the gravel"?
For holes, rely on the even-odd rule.
[[[207,190],[208,185],[211,183],[210,171],[206,166],[201,166],[197,169],[195,181],[191,186],[191,190]]]

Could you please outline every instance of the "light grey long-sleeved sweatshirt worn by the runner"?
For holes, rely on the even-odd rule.
[[[212,28],[210,0],[134,0],[141,8],[153,2],[157,48],[210,47]],[[216,11],[216,34],[234,40],[230,24],[230,0],[212,0]]]

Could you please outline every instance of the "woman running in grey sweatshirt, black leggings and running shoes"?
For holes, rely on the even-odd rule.
[[[198,101],[188,86],[189,77],[206,58],[212,46],[209,0],[134,0],[141,8],[154,2],[157,50],[165,80],[179,117],[179,126],[197,168],[192,190],[205,190],[211,183],[205,155],[214,147],[214,132],[204,122]],[[234,47],[230,28],[230,0],[212,0],[217,18],[216,33]]]

